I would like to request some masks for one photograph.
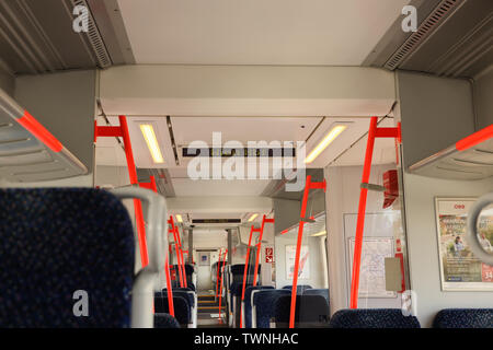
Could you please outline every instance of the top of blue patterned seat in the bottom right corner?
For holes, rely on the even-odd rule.
[[[493,308],[445,308],[433,322],[435,328],[493,328]]]

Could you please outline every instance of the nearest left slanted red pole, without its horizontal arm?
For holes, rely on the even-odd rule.
[[[134,153],[131,152],[130,135],[128,133],[127,118],[118,116],[119,126],[122,129],[122,137],[125,144],[125,155],[127,159],[128,175],[131,185],[138,185],[137,171],[135,167]],[[149,264],[149,256],[147,254],[146,226],[144,224],[142,203],[140,199],[134,199],[135,220],[137,223],[137,233],[139,238],[140,260],[142,268]]]

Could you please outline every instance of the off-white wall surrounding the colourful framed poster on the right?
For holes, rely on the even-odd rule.
[[[417,293],[417,317],[429,327],[446,307],[493,307],[492,292],[444,292],[440,288],[435,197],[481,196],[493,178],[458,182],[404,174],[411,288]]]

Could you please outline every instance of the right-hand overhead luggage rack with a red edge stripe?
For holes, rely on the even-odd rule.
[[[493,176],[493,125],[411,165],[409,172],[465,180]]]

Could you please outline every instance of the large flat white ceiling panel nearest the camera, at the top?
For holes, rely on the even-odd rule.
[[[359,66],[409,0],[118,0],[137,63]]]

